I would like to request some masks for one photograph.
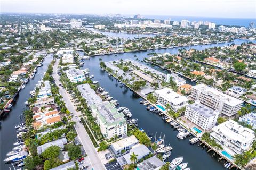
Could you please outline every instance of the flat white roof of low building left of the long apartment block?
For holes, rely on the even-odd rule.
[[[159,96],[163,97],[167,101],[171,101],[175,105],[178,105],[182,102],[188,101],[186,96],[179,95],[179,94],[177,94],[177,92],[173,91],[170,88],[156,90],[155,93],[158,94]]]

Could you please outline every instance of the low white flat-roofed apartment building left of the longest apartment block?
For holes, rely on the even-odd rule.
[[[156,96],[159,105],[166,108],[166,105],[170,104],[171,109],[174,112],[177,112],[179,109],[188,105],[188,99],[185,96],[181,96],[169,88],[156,90],[154,95]]]

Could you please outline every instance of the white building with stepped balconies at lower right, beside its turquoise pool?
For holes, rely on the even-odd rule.
[[[221,123],[213,127],[212,130],[210,136],[224,149],[227,148],[227,150],[232,151],[233,153],[229,152],[231,156],[249,150],[255,139],[253,130],[244,128],[233,120]]]

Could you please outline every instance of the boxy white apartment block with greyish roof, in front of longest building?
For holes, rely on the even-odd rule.
[[[201,104],[200,101],[188,105],[185,112],[185,118],[205,131],[212,129],[215,126],[218,115],[219,111],[214,111],[210,107]]]

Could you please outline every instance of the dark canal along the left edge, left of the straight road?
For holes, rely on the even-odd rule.
[[[30,97],[29,91],[34,90],[35,85],[39,80],[42,79],[43,73],[47,70],[48,65],[52,61],[53,55],[49,54],[45,58],[43,65],[38,67],[36,75],[33,79],[26,84],[24,89],[21,89],[19,95],[17,95],[16,102],[14,103],[11,111],[1,117],[1,129],[0,129],[0,169],[9,169],[12,167],[11,164],[5,164],[3,160],[7,157],[6,154],[12,151],[14,147],[13,143],[17,142],[15,125],[24,122],[24,118],[21,117],[23,110],[25,109],[24,102]]]

